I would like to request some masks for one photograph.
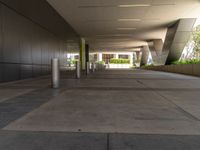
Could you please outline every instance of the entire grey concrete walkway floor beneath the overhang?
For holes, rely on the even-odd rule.
[[[106,70],[0,85],[2,150],[199,150],[200,78]]]

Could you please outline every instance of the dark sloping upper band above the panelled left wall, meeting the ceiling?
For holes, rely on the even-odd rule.
[[[62,39],[78,35],[46,0],[0,0],[35,23],[48,29]]]

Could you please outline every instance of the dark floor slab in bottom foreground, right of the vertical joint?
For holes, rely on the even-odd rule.
[[[109,150],[198,150],[199,136],[111,134]]]

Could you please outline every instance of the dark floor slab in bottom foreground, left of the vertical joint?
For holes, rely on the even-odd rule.
[[[0,132],[1,150],[107,150],[106,134]]]

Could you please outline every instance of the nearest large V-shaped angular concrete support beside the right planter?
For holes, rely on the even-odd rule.
[[[171,64],[179,60],[190,39],[195,22],[194,18],[180,19],[168,27],[164,43],[161,39],[147,42],[154,65]]]

